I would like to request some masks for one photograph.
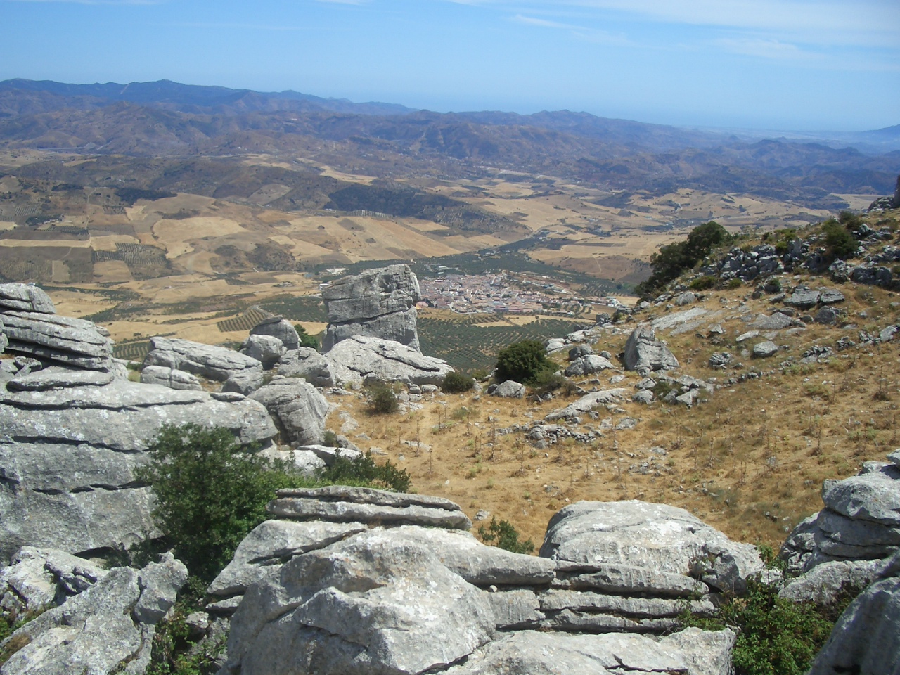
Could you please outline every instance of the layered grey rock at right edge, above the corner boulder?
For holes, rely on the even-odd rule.
[[[853,568],[900,549],[900,452],[888,458],[890,463],[867,462],[859,475],[824,482],[824,509],[801,522],[782,546],[789,570],[810,572],[832,561]]]

